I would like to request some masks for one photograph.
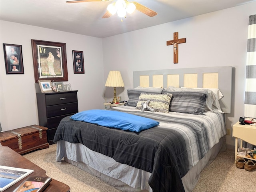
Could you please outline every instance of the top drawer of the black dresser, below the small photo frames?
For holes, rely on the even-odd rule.
[[[77,93],[61,93],[61,94],[50,94],[46,95],[46,106],[58,105],[64,103],[77,102]]]

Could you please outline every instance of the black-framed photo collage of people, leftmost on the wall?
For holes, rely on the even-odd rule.
[[[6,74],[24,74],[21,45],[3,44]]]

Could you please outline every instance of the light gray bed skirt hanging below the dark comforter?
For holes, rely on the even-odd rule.
[[[204,158],[202,158],[198,164],[189,170],[182,178],[182,183],[186,192],[191,192],[194,189],[203,168],[216,158],[220,150],[225,150],[223,147],[224,144],[225,136],[220,138],[220,142],[215,144],[207,152]],[[100,178],[121,191],[153,192],[147,182],[151,175],[150,172],[120,164],[114,159],[98,152],[94,152],[82,144],[72,144],[63,140],[58,141],[56,160],[61,161],[63,157],[66,162]],[[100,161],[98,161],[99,159]],[[116,170],[118,170],[118,174]]]

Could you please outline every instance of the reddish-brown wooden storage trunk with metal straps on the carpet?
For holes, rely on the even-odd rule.
[[[49,147],[47,129],[39,125],[30,125],[0,132],[0,142],[2,146],[8,146],[19,154],[31,152],[36,149],[45,149]]]

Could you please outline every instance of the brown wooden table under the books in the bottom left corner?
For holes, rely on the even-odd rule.
[[[21,156],[20,154],[18,154],[17,152],[15,152],[14,150],[7,146],[0,145],[0,165],[24,169],[33,169],[34,172],[29,174],[29,176],[46,176],[45,170],[38,167],[36,164],[27,160],[26,158],[24,158],[23,156]],[[27,177],[23,178],[13,186],[10,186],[4,192],[13,191],[26,178]],[[52,179],[49,186],[44,190],[44,192],[70,192],[70,188],[66,184]]]

